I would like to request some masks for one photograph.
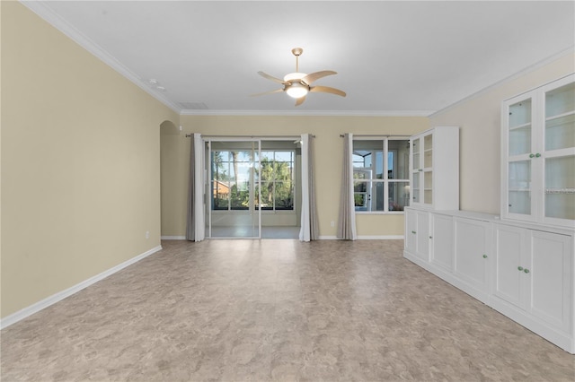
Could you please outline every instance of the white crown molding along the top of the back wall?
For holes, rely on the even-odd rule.
[[[429,117],[435,110],[189,110],[181,116]]]

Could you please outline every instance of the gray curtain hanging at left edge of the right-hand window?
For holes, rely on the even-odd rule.
[[[343,166],[341,171],[340,216],[338,239],[358,239],[356,232],[356,207],[353,199],[353,135],[343,136]]]

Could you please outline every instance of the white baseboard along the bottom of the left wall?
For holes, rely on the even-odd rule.
[[[58,301],[64,300],[64,299],[66,299],[66,297],[70,297],[74,293],[77,293],[78,291],[82,291],[84,288],[89,287],[93,283],[99,282],[99,281],[105,279],[106,277],[110,276],[111,274],[121,271],[122,269],[126,268],[128,265],[132,265],[134,263],[137,263],[141,259],[143,259],[147,256],[150,256],[150,255],[154,254],[155,252],[157,252],[161,249],[162,249],[162,246],[154,247],[154,248],[144,252],[141,255],[138,255],[136,257],[132,257],[129,260],[110,268],[107,271],[104,271],[100,274],[96,274],[95,276],[90,277],[89,279],[84,280],[83,282],[79,282],[79,283],[75,284],[74,286],[72,286],[72,287],[70,287],[64,291],[58,291],[57,293],[49,296],[48,298],[46,298],[44,300],[40,300],[40,301],[32,304],[29,307],[23,308],[22,310],[18,310],[17,312],[0,319],[0,329],[4,329],[4,327],[11,326],[11,325],[17,323],[18,321],[20,321],[26,317],[29,317],[29,316],[33,315],[34,313],[39,312],[40,310],[42,310],[44,308],[48,308],[50,305],[56,304]]]

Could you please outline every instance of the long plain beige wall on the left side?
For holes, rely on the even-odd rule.
[[[6,317],[160,245],[159,126],[179,116],[22,4],[1,7]]]

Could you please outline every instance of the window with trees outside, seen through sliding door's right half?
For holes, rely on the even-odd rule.
[[[294,210],[294,161],[296,152],[261,151],[261,209]],[[258,192],[256,190],[256,206]]]

